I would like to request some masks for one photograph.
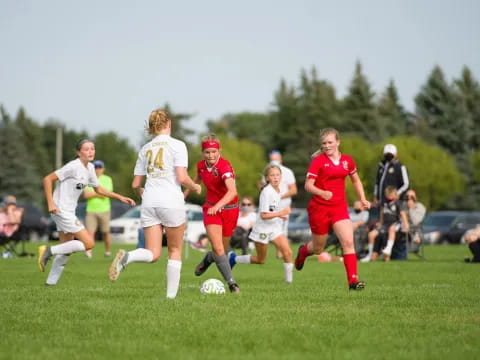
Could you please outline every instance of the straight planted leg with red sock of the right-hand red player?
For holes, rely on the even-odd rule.
[[[350,219],[337,221],[333,224],[333,231],[338,237],[343,249],[343,264],[347,273],[347,281],[351,290],[360,290],[365,283],[358,279],[357,255],[353,244],[353,226]]]

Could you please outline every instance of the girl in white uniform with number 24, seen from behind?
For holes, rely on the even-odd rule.
[[[146,249],[119,250],[110,266],[110,280],[132,262],[152,263],[162,250],[163,229],[168,243],[167,298],[177,295],[182,266],[182,242],[186,209],[181,185],[201,192],[201,186],[188,176],[188,154],[184,142],[170,136],[172,120],[164,110],[154,110],[148,119],[148,133],[153,140],[138,153],[132,187],[142,198],[141,222]],[[143,183],[146,178],[145,188]]]

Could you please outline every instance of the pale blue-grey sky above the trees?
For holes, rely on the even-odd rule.
[[[169,103],[206,131],[225,113],[272,109],[281,79],[315,66],[339,97],[360,61],[410,111],[435,65],[480,78],[480,1],[0,0],[0,104],[39,123],[138,147]]]

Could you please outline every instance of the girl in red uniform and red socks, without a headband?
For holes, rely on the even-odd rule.
[[[305,190],[311,193],[308,204],[308,221],[312,230],[312,240],[298,249],[295,268],[302,270],[305,259],[320,254],[325,248],[328,232],[331,228],[340,240],[343,249],[343,263],[347,272],[350,290],[360,290],[365,282],[358,279],[357,257],[353,245],[353,225],[348,215],[345,199],[345,178],[350,177],[362,207],[370,208],[365,199],[363,185],[357,173],[353,159],[340,153],[340,137],[332,128],[320,132],[321,151],[313,155],[308,168]]]

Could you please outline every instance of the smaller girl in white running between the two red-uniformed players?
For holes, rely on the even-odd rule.
[[[255,241],[257,255],[236,255],[230,253],[230,266],[235,264],[264,264],[267,258],[268,243],[272,242],[282,254],[285,281],[292,282],[292,249],[283,230],[283,221],[291,213],[290,207],[281,208],[280,181],[282,172],[278,165],[265,168],[267,185],[260,193],[258,216],[253,225],[250,239]]]

